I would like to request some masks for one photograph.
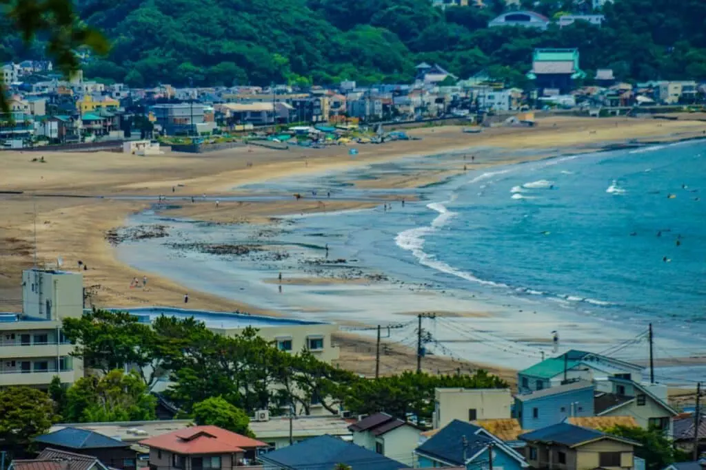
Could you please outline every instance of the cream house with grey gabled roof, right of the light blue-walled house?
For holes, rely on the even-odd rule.
[[[606,391],[608,388],[608,391]],[[596,416],[633,416],[641,428],[656,427],[673,435],[676,411],[666,403],[666,385],[648,385],[626,378],[599,384],[594,398]]]

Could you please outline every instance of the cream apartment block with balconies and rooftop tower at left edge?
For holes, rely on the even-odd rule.
[[[0,314],[0,386],[47,388],[54,376],[71,384],[83,376],[61,320],[83,314],[80,273],[32,268],[22,274],[23,312]]]

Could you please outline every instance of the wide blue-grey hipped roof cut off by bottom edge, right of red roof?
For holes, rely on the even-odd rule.
[[[409,466],[396,460],[359,445],[346,443],[328,434],[307,439],[274,452],[268,452],[258,459],[284,469],[329,470],[333,469],[336,464],[345,464],[354,469],[365,468],[366,470],[409,469]]]

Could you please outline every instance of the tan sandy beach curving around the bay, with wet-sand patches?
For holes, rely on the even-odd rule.
[[[463,133],[457,126],[421,128],[408,132],[421,140],[359,145],[355,158],[348,156],[348,147],[286,151],[243,147],[210,154],[170,153],[149,157],[109,152],[47,152],[44,154],[46,162],[38,163],[31,160],[40,153],[3,151],[0,152],[4,168],[0,191],[23,193],[0,194],[0,310],[21,309],[20,272],[32,265],[36,230],[36,256],[41,263],[55,264],[61,256],[64,268],[78,268],[79,260],[88,266],[88,270],[83,271],[84,283],[90,287],[91,302],[97,306],[179,306],[184,293],[188,292],[189,307],[197,309],[287,314],[279,309],[257,307],[239,299],[207,293],[189,282],[177,282],[175,278],[149,269],[128,266],[116,256],[116,240],[110,234],[121,228],[126,218],[149,208],[167,218],[234,226],[258,224],[266,228],[268,224],[281,223],[281,216],[287,214],[371,209],[386,201],[399,204],[402,199],[411,202],[417,197],[415,188],[433,185],[461,172],[480,172],[492,166],[544,159],[557,151],[580,153],[618,143],[671,142],[700,137],[704,130],[706,123],[699,121],[624,118],[546,118],[539,120],[535,128],[491,128],[481,134]],[[486,159],[483,149],[489,147],[501,151],[496,152],[493,159]],[[529,149],[534,152],[517,153]],[[443,164],[435,162],[433,155],[443,152],[457,153],[458,158]],[[340,199],[333,194],[328,200],[321,194],[315,198],[303,193],[304,197],[297,200],[292,193],[265,194],[263,190],[244,187],[277,178],[296,180],[425,155],[430,157],[405,175],[350,180],[350,185],[361,192],[357,199]],[[468,160],[469,155],[474,156],[473,161]],[[155,206],[160,195],[167,200]],[[142,279],[143,276],[148,276],[147,288],[130,287],[132,278]],[[267,282],[272,283],[273,277]],[[369,288],[380,284],[370,279],[325,276],[315,280],[306,276],[292,277],[285,282],[288,287],[343,284]],[[384,289],[378,287],[378,290],[383,296]],[[419,311],[408,310],[407,314]],[[439,307],[438,311],[450,318],[483,319],[495,314],[472,308],[458,309],[453,302]],[[532,332],[528,332],[529,335]],[[337,342],[342,351],[340,366],[359,373],[371,372],[370,338],[342,333]],[[398,345],[394,351],[397,356],[395,352],[389,354],[383,362],[388,364],[389,370],[383,372],[414,367],[410,359],[414,354],[412,347]],[[436,372],[478,365],[484,364],[436,356],[426,361],[425,368]],[[512,373],[505,369],[496,367],[493,371],[512,379]]]

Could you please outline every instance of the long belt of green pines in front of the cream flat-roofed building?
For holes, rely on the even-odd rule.
[[[143,360],[143,369],[154,368],[158,373],[110,371],[100,381],[95,377],[80,379],[66,392],[66,409],[61,412],[64,419],[86,421],[91,416],[92,421],[102,421],[109,402],[116,404],[117,410],[127,410],[121,413],[141,416],[149,408],[144,402],[148,383],[157,376],[169,379],[164,395],[184,413],[197,421],[229,423],[234,428],[247,428],[243,418],[258,409],[269,409],[278,416],[294,408],[308,415],[314,406],[332,413],[341,408],[354,414],[384,411],[401,419],[414,416],[424,423],[431,420],[436,387],[507,386],[485,371],[473,376],[402,373],[369,380],[320,361],[306,349],[280,351],[253,328],[237,335],[218,335],[193,318],[160,316],[151,328],[139,324],[151,331],[138,331],[145,333],[141,338],[146,339],[136,342],[132,336],[136,323],[126,315],[94,311],[80,320],[65,319],[66,334],[71,332],[77,342],[74,354],[92,358],[99,368]],[[107,342],[107,338],[112,340]],[[136,354],[147,350],[149,354]],[[121,394],[102,392],[116,391],[116,383],[122,384]],[[153,412],[154,406],[149,404]]]

